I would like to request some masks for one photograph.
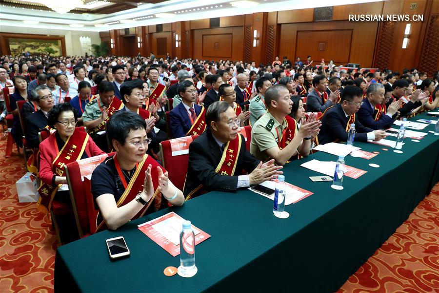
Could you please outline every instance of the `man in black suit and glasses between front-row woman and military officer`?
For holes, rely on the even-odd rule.
[[[246,149],[239,120],[227,102],[209,106],[206,124],[208,129],[189,145],[186,200],[212,190],[236,191],[282,174],[274,160],[262,164]]]

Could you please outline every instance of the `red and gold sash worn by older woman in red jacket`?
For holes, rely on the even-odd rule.
[[[55,133],[52,133],[52,135],[55,135]],[[81,131],[78,128],[75,129],[73,135],[67,139],[64,146],[61,148],[60,152],[52,163],[52,171],[56,176],[65,176],[64,166],[80,160],[82,153],[84,152],[85,146],[87,145],[88,139],[89,136],[86,132]],[[58,149],[56,140],[54,147],[55,149]],[[45,213],[49,212],[55,193],[61,185],[62,184],[49,185],[41,182],[40,188],[38,188],[38,192],[40,193],[40,199],[37,203],[37,209],[39,211]]]

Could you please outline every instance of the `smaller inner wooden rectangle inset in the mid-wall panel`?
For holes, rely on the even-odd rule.
[[[203,35],[203,57],[209,59],[232,58],[233,34]]]

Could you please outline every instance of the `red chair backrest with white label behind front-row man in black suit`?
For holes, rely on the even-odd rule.
[[[185,136],[160,143],[162,165],[168,171],[169,180],[180,190],[183,190],[186,181],[189,145],[197,137]]]

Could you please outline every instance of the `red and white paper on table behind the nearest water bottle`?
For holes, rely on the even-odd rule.
[[[139,230],[151,238],[172,256],[180,254],[180,232],[184,219],[175,212],[167,213],[157,219],[140,224]],[[210,235],[192,225],[195,234],[195,245],[203,242]]]

